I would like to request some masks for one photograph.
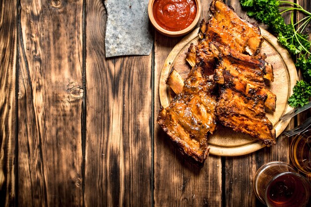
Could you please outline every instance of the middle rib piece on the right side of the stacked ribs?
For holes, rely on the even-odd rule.
[[[276,95],[265,87],[265,56],[244,55],[213,42],[210,43],[210,50],[219,59],[214,75],[217,83],[233,87],[250,98],[254,95],[266,96],[265,108],[275,111]]]

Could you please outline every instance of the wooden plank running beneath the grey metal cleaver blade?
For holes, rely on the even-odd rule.
[[[151,206],[152,54],[106,59],[105,22],[86,1],[85,206]]]

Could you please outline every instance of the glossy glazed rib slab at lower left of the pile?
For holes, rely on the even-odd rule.
[[[157,117],[159,125],[180,151],[198,163],[207,158],[207,136],[216,129],[215,85],[213,75],[209,75],[200,64],[196,65],[185,80],[182,91],[167,108],[160,108]]]

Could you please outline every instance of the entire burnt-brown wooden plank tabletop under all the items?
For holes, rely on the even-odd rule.
[[[238,0],[226,3],[250,20]],[[201,17],[209,4],[202,0]],[[181,38],[154,32],[149,56],[106,59],[102,0],[0,5],[0,206],[263,206],[254,174],[268,161],[290,162],[290,138],[248,155],[210,155],[199,169],[156,123],[160,70]]]

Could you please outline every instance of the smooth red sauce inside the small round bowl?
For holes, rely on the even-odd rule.
[[[153,14],[156,23],[169,31],[187,28],[195,19],[195,0],[155,0]]]

